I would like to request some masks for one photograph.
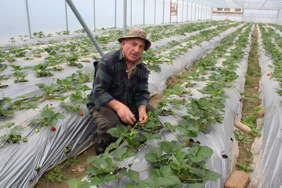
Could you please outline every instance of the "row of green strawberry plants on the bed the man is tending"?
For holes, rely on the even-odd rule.
[[[246,33],[249,34],[250,30],[247,30]],[[241,56],[243,55],[244,53],[241,53]],[[238,61],[239,57],[238,59],[231,58],[231,61],[232,60]],[[213,77],[216,78],[217,76],[213,76]],[[213,77],[209,77],[210,81],[213,81],[212,79]],[[224,75],[223,77],[225,78],[226,76]],[[224,80],[224,79],[221,79],[221,80]],[[217,80],[217,81],[211,82],[209,86],[215,86],[214,84],[217,84],[218,86],[222,85]],[[230,85],[229,83],[228,87],[232,87],[232,84]],[[219,92],[219,90],[221,90],[222,88],[217,87],[216,88],[217,92]],[[166,108],[162,105],[162,103],[171,102],[171,105],[179,105],[179,106],[187,103],[185,98],[177,99],[177,96],[179,94],[182,94],[183,90],[185,90],[183,87],[179,87],[173,90],[164,90],[165,92],[168,93],[169,99],[160,101],[160,103],[158,104],[159,108],[149,113],[149,122],[147,122],[144,127],[138,127],[138,128],[144,128],[146,131],[151,131],[152,133],[154,133],[156,130],[156,127],[160,125],[160,122],[158,120],[159,119],[158,115],[160,115],[160,113],[164,111],[166,111],[166,113],[169,113],[168,110],[166,110]],[[186,107],[194,107],[192,109],[187,109],[188,110],[187,113],[190,115],[191,115],[191,112],[193,110],[196,111],[196,109],[199,110],[199,112],[197,112],[197,115],[196,115],[197,117],[205,117],[206,116],[205,114],[216,114],[215,110],[211,109],[212,106],[213,107],[217,106],[219,107],[220,110],[223,109],[222,104],[216,104],[216,102],[212,103],[211,101],[208,101],[206,98],[201,98],[201,99],[188,98],[188,99],[191,101],[191,103],[186,105]],[[224,101],[219,101],[219,102],[224,102]],[[217,112],[217,114],[219,113]],[[193,117],[195,118],[195,116]],[[151,170],[149,174],[149,178],[146,178],[145,180],[140,180],[138,171],[142,171],[142,170],[134,171],[131,169],[131,167],[134,164],[128,164],[129,166],[128,171],[126,169],[122,169],[120,171],[120,174],[122,176],[127,176],[134,182],[138,182],[138,183],[136,185],[133,183],[127,183],[125,184],[126,187],[137,187],[137,186],[138,187],[148,187],[148,186],[151,186],[151,187],[160,187],[160,186],[180,187],[181,184],[183,183],[192,183],[192,184],[187,185],[187,187],[193,187],[193,186],[204,187],[203,185],[198,183],[199,180],[210,179],[210,180],[216,181],[216,179],[221,177],[220,174],[208,170],[207,166],[205,165],[206,162],[204,158],[211,157],[213,153],[211,148],[207,146],[200,146],[196,144],[194,147],[186,151],[188,152],[188,154],[181,151],[183,147],[188,146],[190,138],[196,138],[198,136],[197,131],[199,131],[201,127],[201,122],[199,119],[193,119],[193,118],[190,118],[190,116],[189,118],[188,116],[182,116],[182,118],[183,120],[180,120],[178,125],[171,125],[171,123],[168,123],[168,122],[164,123],[164,129],[168,129],[172,133],[175,132],[176,129],[180,133],[182,132],[182,134],[173,133],[176,136],[176,138],[182,142],[182,145],[176,141],[170,141],[170,142],[169,141],[160,141],[158,143],[159,147],[150,147],[149,153],[145,155],[145,160],[150,163],[153,163],[155,167],[153,167],[152,169],[143,169],[143,170]],[[111,153],[111,157],[113,157],[114,161],[119,162],[119,163],[118,164],[113,163],[112,159],[109,158],[109,154],[107,153],[101,154],[100,156],[96,156],[96,157],[94,156],[89,157],[87,161],[92,162],[93,164],[93,166],[87,169],[87,172],[90,173],[87,176],[87,180],[91,181],[90,185],[98,185],[98,184],[101,185],[101,183],[111,182],[115,178],[120,179],[121,178],[120,176],[115,176],[116,174],[112,174],[111,172],[114,172],[114,170],[118,167],[120,162],[123,161],[125,158],[129,158],[135,155],[135,153],[133,152],[136,152],[136,148],[139,148],[138,144],[140,144],[140,141],[144,141],[144,139],[147,140],[147,138],[151,136],[154,137],[153,139],[160,138],[160,134],[147,134],[145,132],[141,132],[143,137],[138,138],[136,137],[136,135],[139,132],[140,131],[128,132],[128,129],[124,125],[118,125],[118,127],[112,128],[108,131],[108,133],[112,134],[112,136],[118,137],[119,139],[116,143],[112,143],[107,148],[106,151],[109,151],[111,149],[118,149]],[[122,148],[121,146],[119,146],[122,140],[124,140],[128,149]],[[142,143],[141,145],[144,145],[144,143]],[[142,148],[139,148],[139,150],[140,149]],[[165,152],[166,154],[162,155],[163,152]],[[171,160],[169,160],[170,158]],[[107,165],[107,167],[104,168],[102,171],[99,170],[102,167],[101,164]],[[164,172],[167,172],[167,173],[169,172],[168,173],[169,175],[166,175],[167,173],[164,173]],[[177,176],[177,178],[175,176]],[[167,178],[168,180],[165,180],[165,178]],[[160,182],[160,180],[162,182]],[[172,183],[170,180],[172,180],[174,183]],[[68,185],[70,186],[71,184],[74,184],[75,182],[78,183],[77,187],[79,187],[79,185],[89,185],[87,182],[78,182],[78,180],[75,178],[69,180]],[[70,186],[70,187],[76,187],[76,186]]]

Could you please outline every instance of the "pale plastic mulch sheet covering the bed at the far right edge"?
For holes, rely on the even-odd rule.
[[[261,67],[261,99],[262,106],[266,109],[281,103],[282,97],[276,93],[274,88],[280,86],[275,78],[269,79],[266,74],[271,72],[268,65],[272,65],[272,59],[265,56],[265,49],[262,47],[261,34],[258,28],[258,53],[259,65]],[[261,137],[255,139],[252,145],[252,152],[255,153],[250,173],[249,187],[282,187],[282,105],[276,105],[265,112]]]

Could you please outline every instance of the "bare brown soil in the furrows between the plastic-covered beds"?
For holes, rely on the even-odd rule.
[[[258,66],[258,55],[257,55],[257,33],[256,33],[256,28],[254,29],[254,37],[252,37],[252,39],[255,40],[255,42],[253,43],[252,41],[252,49],[251,51],[254,52],[253,54],[250,54],[249,56],[249,67],[254,67],[252,68],[252,70],[248,70],[247,74],[249,75],[250,80],[253,81],[252,84],[250,85],[246,85],[245,86],[245,91],[246,93],[250,94],[252,96],[252,94],[257,94],[259,89],[255,89],[255,88],[259,88],[259,80],[260,80],[260,76],[254,76],[254,72],[255,73],[259,73],[260,72],[260,68]],[[256,45],[255,45],[256,43]],[[207,57],[206,57],[207,58]],[[179,72],[178,75],[183,76],[183,75],[188,75],[188,71],[196,71],[195,67],[186,67],[183,71]],[[170,86],[175,86],[179,83],[183,83],[184,81],[186,81],[185,78],[177,78],[176,76],[171,76],[170,79],[167,80],[167,85],[168,85],[168,89],[172,89],[170,88]],[[149,99],[149,103],[151,105],[153,105],[155,108],[157,108],[157,104],[158,101],[160,99],[165,99],[166,96],[165,95],[154,95]],[[260,98],[252,98],[249,97],[244,98],[243,100],[243,113],[246,114],[246,116],[250,116],[252,115],[255,110],[253,109],[253,107],[255,106],[259,106],[261,104],[261,99]],[[246,110],[248,109],[248,110]],[[262,118],[263,114],[262,113],[258,113],[257,118]],[[248,136],[250,136],[252,138],[252,140],[254,140],[254,136],[252,136],[252,134],[248,134]],[[197,143],[197,142],[196,142]],[[253,143],[253,141],[252,141]],[[252,165],[252,161],[253,161],[253,155],[250,152],[251,149],[251,145],[250,144],[244,144],[244,143],[239,143],[239,155],[237,157],[237,163],[246,163],[248,166]],[[190,144],[193,144],[193,140],[191,139]],[[74,162],[71,162],[70,164],[67,163],[67,161],[63,162],[62,164],[58,165],[60,168],[60,172],[65,172],[65,176],[67,177],[67,180],[69,180],[70,178],[78,178],[81,179],[86,175],[86,170],[87,167],[91,166],[92,163],[87,162],[87,158],[89,156],[97,156],[95,153],[95,144],[92,145],[91,147],[89,147],[87,150],[85,150],[84,152],[82,152],[81,154],[79,154],[78,156],[76,156],[76,160],[79,161],[78,164],[75,164]],[[227,156],[222,155],[223,158],[227,158]],[[238,165],[236,165],[236,170],[241,170],[239,168]],[[119,169],[121,170],[121,169]],[[35,188],[67,188],[69,187],[67,185],[67,180],[62,180],[62,182],[58,183],[58,182],[51,182],[50,180],[47,179],[48,175],[54,172],[54,169],[45,172],[43,174],[43,176],[39,179],[38,183],[35,185]]]

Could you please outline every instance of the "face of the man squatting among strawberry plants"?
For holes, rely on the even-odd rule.
[[[126,42],[122,40],[122,51],[124,52],[125,61],[133,63],[141,57],[145,46],[145,40],[139,37],[129,37]]]

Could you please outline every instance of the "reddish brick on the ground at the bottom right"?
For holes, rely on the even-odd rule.
[[[242,171],[234,171],[228,178],[224,188],[246,188],[250,179],[250,174]]]

